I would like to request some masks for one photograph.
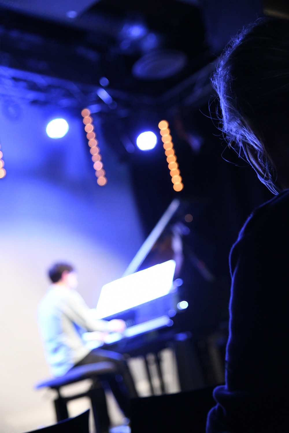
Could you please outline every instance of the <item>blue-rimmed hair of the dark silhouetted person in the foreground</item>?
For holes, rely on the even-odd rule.
[[[264,130],[271,121],[273,125],[288,122],[289,21],[264,18],[243,29],[221,56],[212,84],[220,99],[222,130],[229,145],[278,194],[272,160],[276,148],[266,141]],[[289,143],[287,148],[281,143],[277,152],[289,162]]]

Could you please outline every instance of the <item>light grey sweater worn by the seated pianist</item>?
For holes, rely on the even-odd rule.
[[[81,339],[86,331],[109,331],[108,322],[94,319],[74,289],[49,286],[37,308],[45,359],[53,376],[62,376],[83,359],[88,349]]]

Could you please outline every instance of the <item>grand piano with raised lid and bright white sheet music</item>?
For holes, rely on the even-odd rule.
[[[127,329],[122,334],[110,333],[104,343],[89,341],[89,333],[84,334],[84,340],[88,340],[86,344],[91,349],[102,346],[130,357],[142,356],[152,395],[155,394],[155,390],[147,355],[154,356],[160,388],[162,393],[165,393],[159,354],[167,347],[175,352],[181,390],[205,385],[200,363],[189,343],[192,334],[189,331],[188,320],[183,320],[184,313],[188,317],[189,305],[180,290],[182,279],[179,278],[179,272],[183,262],[182,236],[187,234],[186,230],[189,229],[179,222],[177,213],[180,207],[179,200],[172,201],[122,278],[102,288],[95,310],[97,318],[122,319],[126,322]],[[207,281],[213,281],[214,276],[206,266],[192,252],[190,254],[191,263],[202,277]],[[162,268],[162,277],[167,279],[166,287],[162,290],[159,290],[162,280],[157,281],[156,272],[152,274],[153,269],[157,268]],[[146,274],[150,279],[146,279]],[[130,299],[135,293],[127,290],[127,284],[133,287],[133,282],[136,292],[143,294],[139,300]],[[138,287],[139,285],[141,287]],[[119,298],[119,302],[114,299],[118,291],[123,291],[124,295]],[[121,304],[121,299],[127,300],[128,307],[125,304],[118,305]]]

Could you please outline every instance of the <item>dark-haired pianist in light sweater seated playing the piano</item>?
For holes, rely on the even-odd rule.
[[[116,352],[88,349],[81,338],[82,333],[88,331],[91,339],[103,340],[110,332],[123,332],[125,322],[93,317],[76,291],[78,275],[71,265],[56,263],[49,270],[49,278],[52,284],[38,305],[37,316],[50,372],[53,376],[62,376],[79,365],[113,362],[117,369],[107,381],[120,409],[129,418],[129,401],[137,397],[137,393],[126,361]],[[121,375],[123,380],[117,381],[116,375],[118,379]]]

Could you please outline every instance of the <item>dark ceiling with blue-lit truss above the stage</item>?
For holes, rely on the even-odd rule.
[[[63,15],[73,2],[52,1],[50,13],[36,2],[40,12],[33,13],[23,0],[0,0],[0,84],[8,75],[14,98],[78,108],[100,103],[104,113],[208,101],[224,45],[262,14],[261,0],[86,0],[90,7],[69,18],[58,3]],[[186,60],[167,76],[175,62],[171,53]],[[143,78],[132,72],[148,55],[159,79],[149,76],[147,64]],[[101,77],[110,82],[110,107],[97,95]],[[9,86],[0,86],[0,96],[9,96]]]

